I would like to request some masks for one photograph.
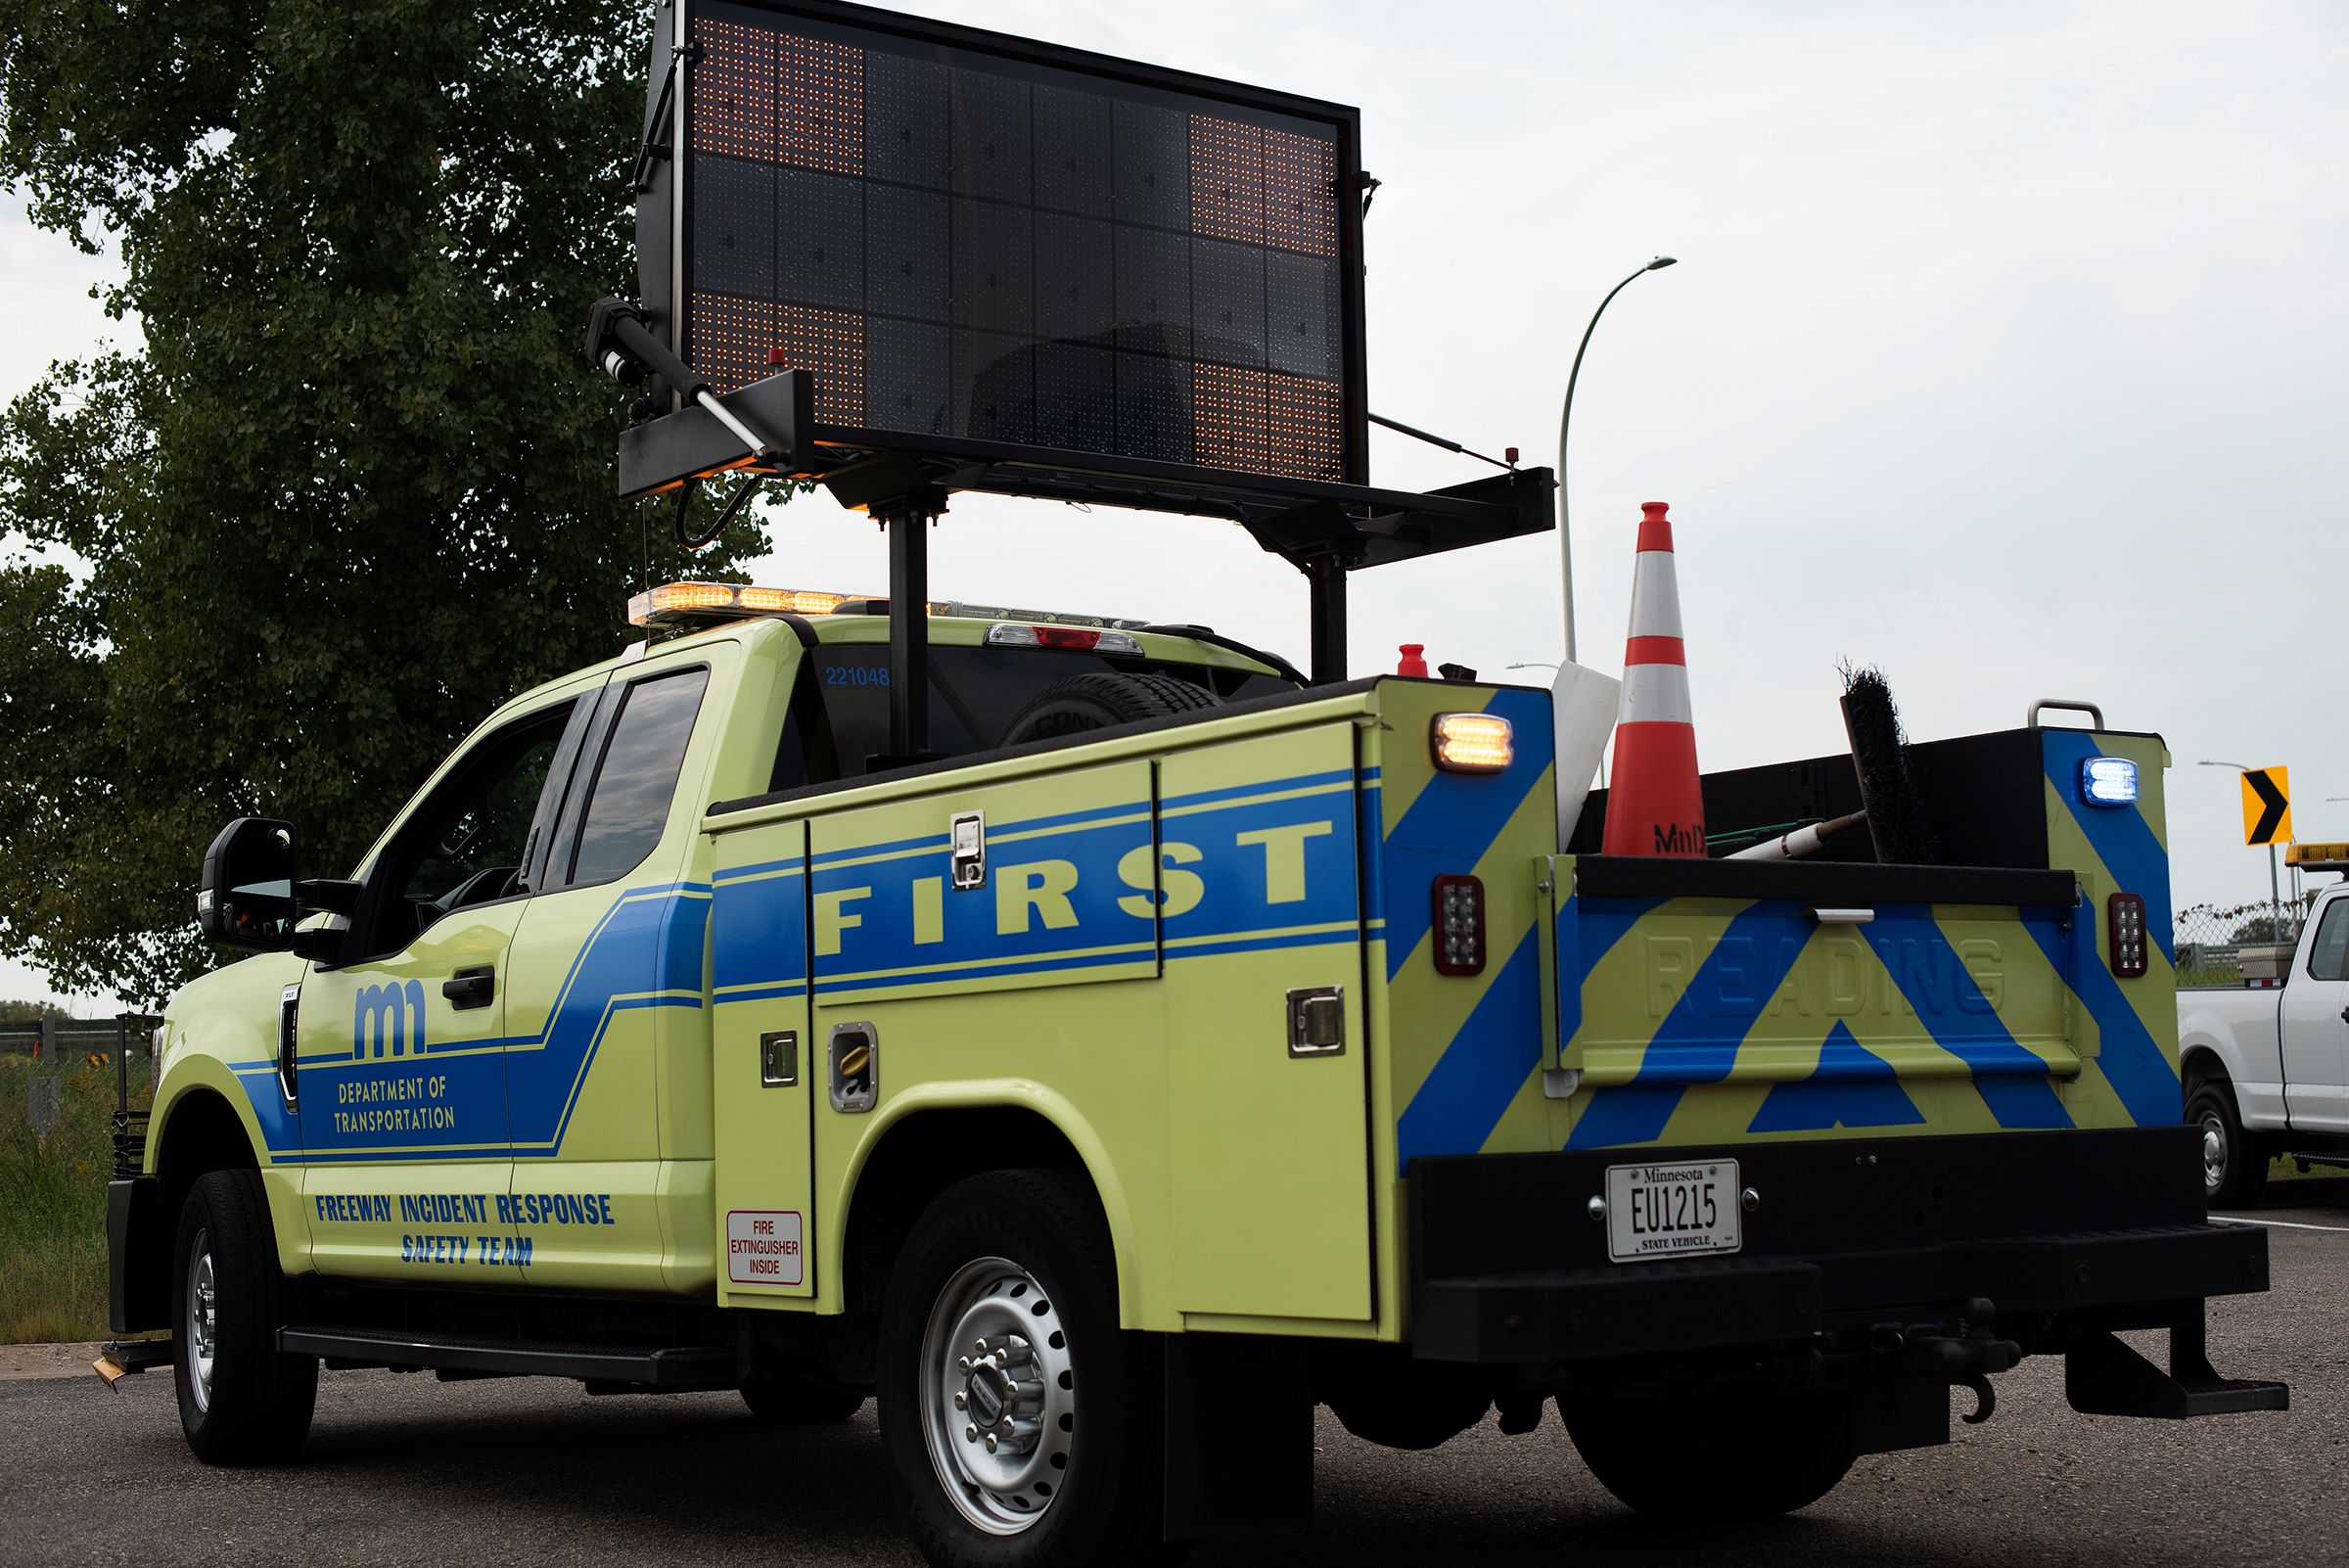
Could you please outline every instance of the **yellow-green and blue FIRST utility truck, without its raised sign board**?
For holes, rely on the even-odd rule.
[[[1546,692],[1196,627],[933,606],[890,765],[890,610],[660,589],[702,624],[503,707],[350,880],[221,833],[258,953],[110,1188],[197,1455],[291,1460],[322,1366],[879,1399],[933,1561],[1118,1563],[1304,1519],[1318,1404],[1555,1404],[1661,1514],[1802,1507],[2025,1354],[2281,1404],[2201,1354],[2267,1237],[2180,1124],[2156,737],[1921,746],[1954,864],[1576,854]]]

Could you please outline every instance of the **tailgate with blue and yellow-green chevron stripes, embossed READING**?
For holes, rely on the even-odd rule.
[[[1567,1148],[2128,1124],[2081,1094],[2098,951],[2069,871],[1557,873]]]

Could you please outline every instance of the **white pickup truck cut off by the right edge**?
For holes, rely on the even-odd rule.
[[[2349,845],[2297,864],[2349,871]],[[2255,1204],[2279,1155],[2349,1164],[2349,876],[2309,911],[2281,986],[2178,993],[2178,1068],[2213,1207]]]

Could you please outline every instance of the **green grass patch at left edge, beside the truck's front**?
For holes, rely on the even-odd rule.
[[[0,1345],[101,1340],[113,1068],[0,1059]],[[35,1077],[59,1080],[56,1124],[33,1127]],[[134,1077],[134,1103],[148,1089]]]

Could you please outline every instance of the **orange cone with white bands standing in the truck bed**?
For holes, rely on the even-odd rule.
[[[1630,580],[1623,707],[1607,791],[1607,854],[1703,854],[1705,800],[1696,784],[1689,655],[1680,638],[1680,580],[1665,502],[1640,502],[1640,561]]]

